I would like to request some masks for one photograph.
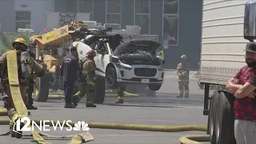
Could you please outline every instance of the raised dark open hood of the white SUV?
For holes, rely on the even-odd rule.
[[[150,54],[155,55],[158,48],[161,46],[159,42],[153,40],[144,40],[144,39],[132,39],[127,42],[122,42],[114,50],[114,55],[119,56],[122,54],[130,54],[136,50],[143,50],[150,52]]]

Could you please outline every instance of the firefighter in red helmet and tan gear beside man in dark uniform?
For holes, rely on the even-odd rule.
[[[78,74],[78,92],[73,95],[73,104],[78,106],[78,102],[86,94],[86,107],[96,107],[94,105],[94,87],[96,84],[96,64],[94,57],[96,53],[94,50],[90,50],[87,53],[86,58],[83,58],[80,62],[80,70]]]

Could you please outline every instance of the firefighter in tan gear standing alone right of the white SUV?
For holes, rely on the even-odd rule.
[[[181,56],[181,62],[177,66],[177,75],[178,75],[178,89],[179,89],[179,94],[177,98],[182,98],[184,93],[185,93],[185,98],[189,98],[190,70],[186,62],[186,55]]]

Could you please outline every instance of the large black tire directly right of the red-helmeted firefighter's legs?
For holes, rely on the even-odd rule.
[[[106,80],[102,77],[97,77],[95,92],[94,92],[94,103],[102,104],[105,99],[106,93]]]

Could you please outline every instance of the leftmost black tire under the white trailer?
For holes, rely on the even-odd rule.
[[[208,121],[209,121],[208,127],[209,127],[211,144],[216,144],[215,124],[216,124],[216,111],[217,111],[218,97],[219,97],[218,91],[215,90],[213,96],[210,98],[210,114],[208,117]]]

